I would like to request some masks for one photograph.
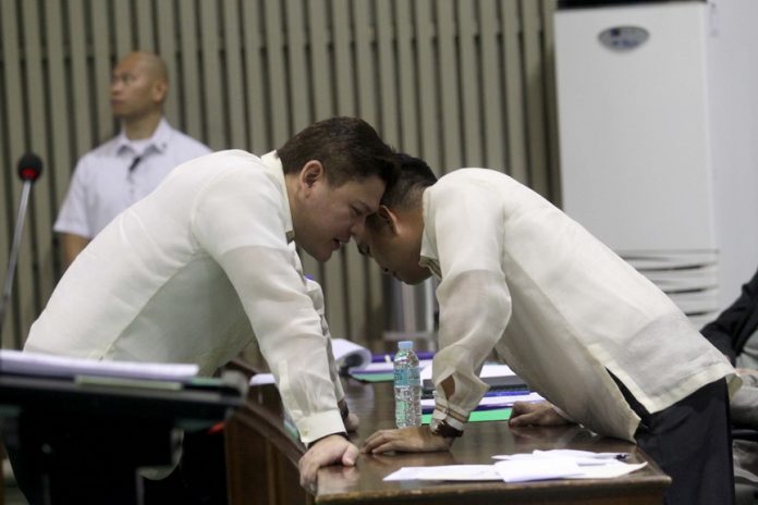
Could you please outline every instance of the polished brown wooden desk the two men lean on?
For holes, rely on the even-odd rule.
[[[394,405],[389,383],[345,382],[351,411],[360,417],[352,435],[359,444],[377,429],[393,427]],[[553,480],[521,484],[504,482],[383,482],[403,466],[491,464],[492,455],[534,449],[576,448],[632,453],[641,470],[618,479]],[[360,455],[353,468],[320,470],[315,495],[298,483],[297,460],[304,447],[282,419],[273,386],[252,387],[244,408],[227,423],[230,504],[660,504],[670,479],[635,445],[594,435],[579,427],[511,429],[506,422],[475,422],[450,453]]]

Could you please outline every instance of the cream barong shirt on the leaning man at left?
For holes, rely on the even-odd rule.
[[[343,432],[323,297],[293,237],[274,152],[186,162],[75,259],[25,349],[211,374],[257,336],[303,442]]]

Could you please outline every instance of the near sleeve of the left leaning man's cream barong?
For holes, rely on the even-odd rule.
[[[218,177],[197,198],[193,233],[240,296],[284,406],[308,444],[345,431],[337,406],[342,392],[311,297],[316,288],[298,271],[296,253],[288,245],[286,195],[276,182],[261,178],[244,171]],[[316,298],[322,298],[320,287]]]

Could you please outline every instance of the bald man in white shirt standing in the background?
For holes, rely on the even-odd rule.
[[[131,52],[113,69],[111,108],[121,133],[76,164],[53,230],[62,234],[69,268],[95,235],[122,210],[144,198],[178,164],[210,149],[172,128],[163,118],[169,79],[151,52]]]

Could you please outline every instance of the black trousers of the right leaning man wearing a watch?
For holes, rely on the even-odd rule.
[[[614,378],[615,379],[615,378]],[[732,429],[726,381],[700,387],[661,411],[650,414],[615,379],[640,417],[637,444],[668,473],[667,505],[733,505]]]

